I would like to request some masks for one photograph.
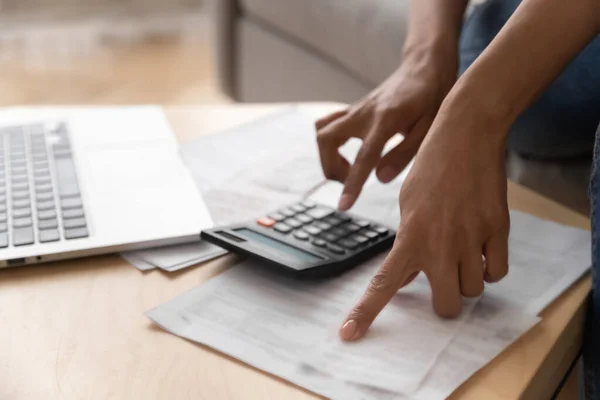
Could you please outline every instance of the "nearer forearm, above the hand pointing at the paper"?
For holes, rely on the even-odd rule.
[[[511,124],[596,37],[599,21],[597,0],[523,0],[446,103]]]

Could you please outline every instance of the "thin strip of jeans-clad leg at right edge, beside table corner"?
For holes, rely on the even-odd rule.
[[[585,399],[600,399],[600,126],[590,182],[592,206],[592,295],[583,343]]]

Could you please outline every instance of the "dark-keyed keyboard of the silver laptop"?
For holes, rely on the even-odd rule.
[[[0,248],[88,236],[67,126],[0,128]]]

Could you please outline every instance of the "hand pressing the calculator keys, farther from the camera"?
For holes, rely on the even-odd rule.
[[[419,53],[419,54],[416,54]],[[339,208],[349,209],[374,168],[379,180],[393,180],[415,156],[438,108],[456,78],[456,55],[407,52],[400,68],[358,104],[317,121],[317,141],[323,172],[344,183]],[[387,141],[396,133],[404,140],[383,158]],[[363,144],[354,165],[338,148],[351,137]]]

